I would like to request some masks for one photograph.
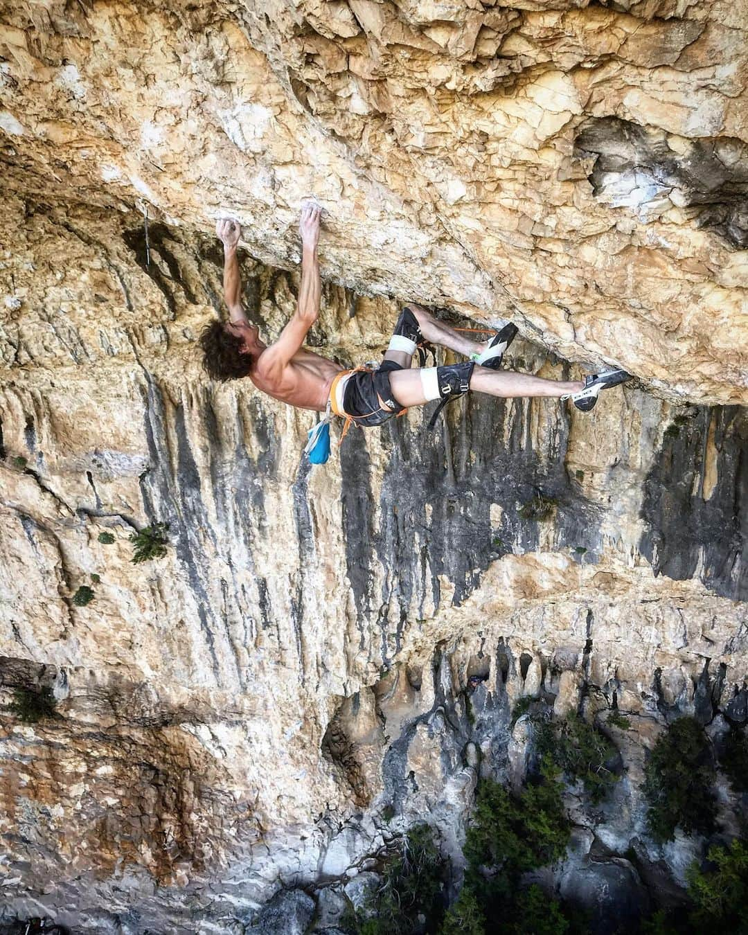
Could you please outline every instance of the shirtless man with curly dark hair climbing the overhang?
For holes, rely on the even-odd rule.
[[[322,283],[317,259],[321,209],[307,204],[301,210],[299,229],[303,254],[301,286],[296,310],[281,336],[269,346],[259,337],[240,301],[237,244],[241,228],[236,221],[219,221],[223,241],[223,295],[229,321],[213,321],[200,336],[203,367],[214,380],[249,377],[274,399],[301,409],[324,412],[328,401],[336,415],[353,423],[380,425],[408,409],[430,400],[448,400],[468,390],[489,396],[556,396],[570,398],[583,411],[595,406],[601,390],[629,379],[623,370],[608,370],[584,381],[553,381],[525,373],[496,369],[502,354],[517,333],[505,325],[493,338],[478,344],[435,319],[426,309],[409,304],[397,319],[395,332],[380,367],[346,370],[302,347],[309,328],[320,313]],[[468,357],[442,367],[410,367],[413,352],[423,341],[438,344]]]

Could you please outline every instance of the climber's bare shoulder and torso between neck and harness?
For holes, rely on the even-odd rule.
[[[343,368],[313,351],[302,348],[283,363],[273,345],[257,358],[250,380],[258,390],[299,409],[324,412],[335,375]]]

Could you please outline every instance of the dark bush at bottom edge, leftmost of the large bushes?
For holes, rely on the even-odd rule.
[[[444,916],[446,864],[427,825],[410,828],[399,853],[384,868],[381,883],[345,925],[357,935],[411,935],[436,931]],[[419,922],[423,915],[425,924]]]

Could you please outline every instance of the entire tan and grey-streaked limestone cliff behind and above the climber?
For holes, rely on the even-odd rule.
[[[7,918],[332,935],[424,816],[459,868],[538,696],[583,703],[626,770],[602,812],[569,790],[552,885],[633,917],[683,883],[697,845],[648,838],[647,751],[680,713],[748,720],[746,17],[617,7],[3,8]],[[511,316],[508,367],[640,381],[589,414],[476,396],[431,433],[410,410],[311,468],[313,416],[209,383],[194,343],[224,212],[279,334],[307,195],[309,343],[341,363],[415,298]],[[153,523],[167,554],[134,565]],[[42,685],[55,713],[23,723]]]

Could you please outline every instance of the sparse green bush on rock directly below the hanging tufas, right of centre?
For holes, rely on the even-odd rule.
[[[593,802],[599,802],[620,776],[609,764],[617,750],[597,727],[576,714],[536,724],[536,746],[550,756],[572,781],[581,780]]]

